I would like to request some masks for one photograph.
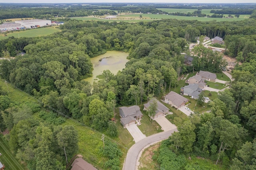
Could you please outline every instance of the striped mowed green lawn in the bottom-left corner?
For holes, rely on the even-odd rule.
[[[21,165],[15,158],[15,155],[10,151],[10,147],[3,135],[0,135],[0,162],[5,165],[5,170],[25,170],[24,166]]]

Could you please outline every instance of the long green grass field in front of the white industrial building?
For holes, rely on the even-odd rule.
[[[44,28],[36,28],[36,29],[28,29],[24,31],[13,31],[11,33],[8,33],[7,36],[4,36],[4,34],[0,34],[0,40],[7,39],[8,37],[14,36],[15,38],[18,37],[39,37],[44,35],[50,35],[52,33],[61,31],[60,29],[56,27],[44,27]]]

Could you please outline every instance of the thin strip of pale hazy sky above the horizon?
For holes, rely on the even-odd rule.
[[[0,3],[256,3],[255,0],[0,0]]]

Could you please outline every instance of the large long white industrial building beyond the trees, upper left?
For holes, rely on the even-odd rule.
[[[25,28],[36,28],[36,27],[43,27],[47,25],[51,25],[51,20],[20,20],[15,21],[15,23],[19,23],[21,26],[24,26]]]

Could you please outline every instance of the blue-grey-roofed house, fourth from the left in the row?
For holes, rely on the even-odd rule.
[[[192,99],[198,99],[199,94],[202,92],[202,89],[198,87],[198,84],[189,84],[180,88],[180,93],[184,96],[191,96]]]

